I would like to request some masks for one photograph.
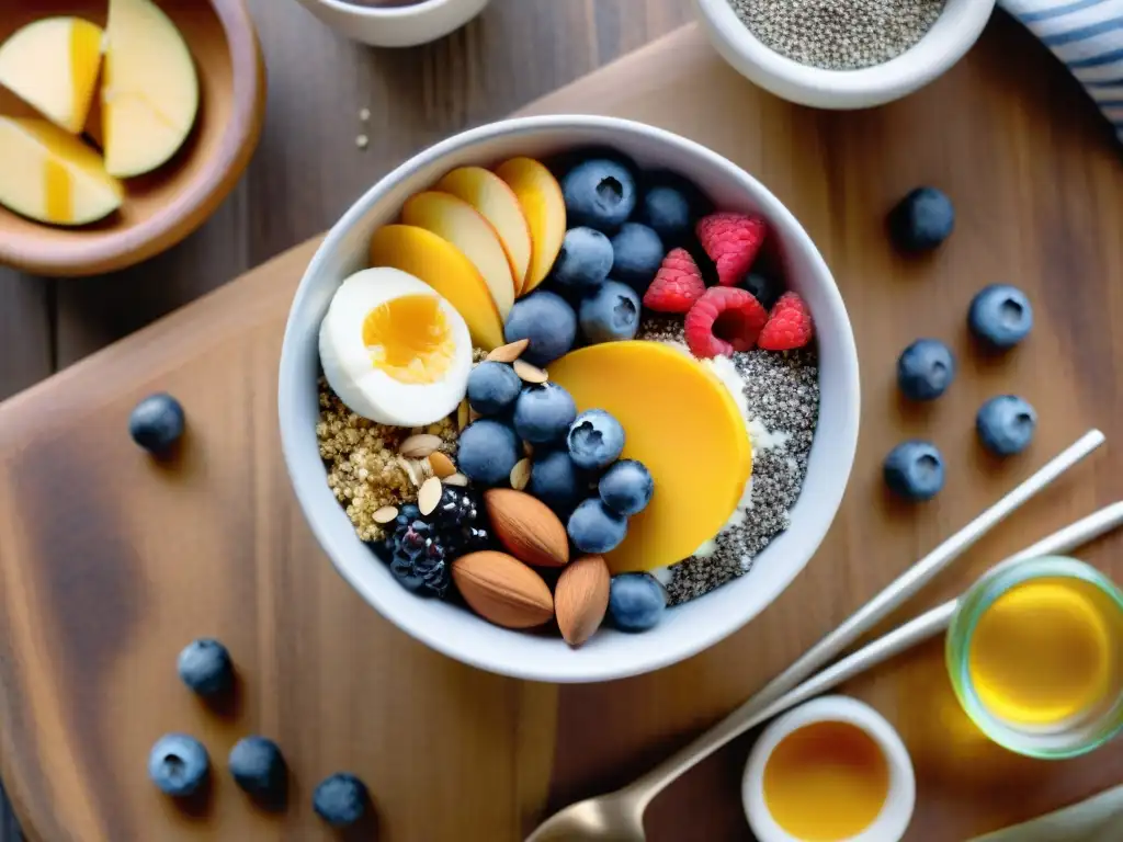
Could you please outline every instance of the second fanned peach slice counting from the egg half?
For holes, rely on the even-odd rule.
[[[511,264],[491,223],[475,208],[448,193],[427,191],[405,200],[402,223],[432,231],[451,242],[483,275],[501,319],[514,303]]]

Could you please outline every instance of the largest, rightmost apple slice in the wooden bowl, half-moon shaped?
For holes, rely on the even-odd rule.
[[[106,170],[149,173],[186,140],[199,112],[199,76],[175,24],[149,0],[109,0],[101,120]]]

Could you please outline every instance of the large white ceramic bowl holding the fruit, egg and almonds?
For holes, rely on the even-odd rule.
[[[489,166],[515,155],[544,157],[586,145],[614,147],[645,167],[673,168],[706,191],[718,207],[768,219],[786,280],[806,299],[815,320],[822,395],[792,528],[758,557],[752,570],[668,611],[651,631],[604,629],[573,650],[559,638],[501,629],[466,610],[409,593],[358,540],[328,489],[316,441],[317,331],[336,287],[366,266],[371,235],[394,220],[410,195],[457,166]],[[491,123],[437,144],[394,170],[328,232],[296,291],[281,354],[284,458],[312,531],[343,577],[391,622],[433,649],[493,672],[544,681],[600,681],[658,669],[716,643],[759,614],[807,564],[838,511],[853,463],[858,411],[858,357],[850,321],[830,271],[795,218],[763,184],[720,155],[667,131],[606,117]]]

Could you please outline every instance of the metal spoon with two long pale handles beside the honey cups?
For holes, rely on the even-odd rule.
[[[575,840],[613,840],[643,842],[643,812],[664,788],[695,763],[709,757],[730,740],[739,736],[785,707],[834,686],[858,672],[879,663],[896,652],[947,628],[955,602],[933,608],[910,623],[889,632],[855,655],[796,686],[831,658],[869,631],[889,612],[900,607],[951,561],[962,555],[984,534],[1030,497],[1046,488],[1057,477],[1080,461],[1104,442],[1099,430],[1089,430],[1066,450],[1046,464],[1033,476],[983,512],[978,518],[922,558],[891,585],[855,612],[838,629],[809,649],[784,672],[774,678],[757,695],[742,704],[685,748],[659,763],[632,784],[614,793],[573,804],[546,820],[530,834],[527,842],[574,842]],[[1123,519],[1123,503],[1102,509],[1095,514],[1067,527],[1014,558],[1066,552],[1103,534]],[[1031,555],[1025,555],[1031,553]],[[949,608],[950,606],[950,608]],[[942,626],[940,625],[942,623]],[[805,688],[811,689],[805,689]],[[795,689],[793,689],[795,688]],[[791,692],[791,693],[789,693]],[[788,694],[788,695],[784,695]]]

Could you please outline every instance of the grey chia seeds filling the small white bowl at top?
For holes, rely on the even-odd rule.
[[[824,70],[859,70],[914,46],[946,0],[729,0],[741,22],[780,55]]]

